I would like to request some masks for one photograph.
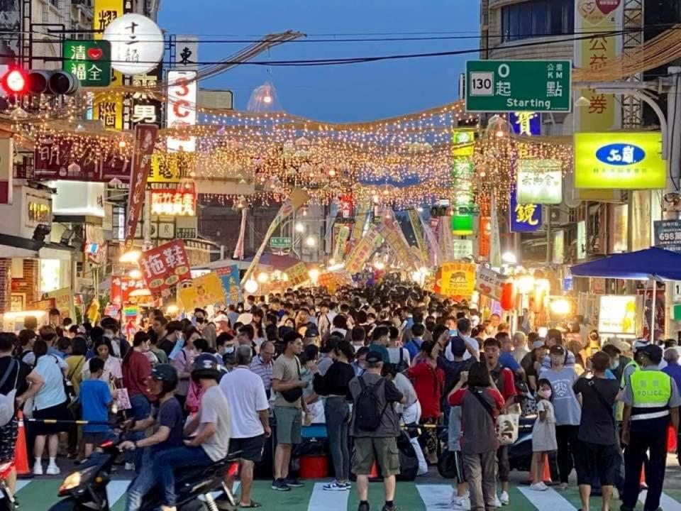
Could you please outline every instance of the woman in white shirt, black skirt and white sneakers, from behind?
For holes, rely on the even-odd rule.
[[[64,374],[68,366],[65,361],[55,355],[48,354],[48,344],[43,339],[37,339],[33,344],[35,354],[35,372],[45,380],[45,385],[38,391],[33,400],[34,419],[52,419],[57,421],[68,421],[71,419],[67,408],[67,396],[64,389]],[[43,464],[41,458],[45,451],[45,441],[48,444],[48,456],[50,463],[47,473],[50,476],[60,473],[57,466],[57,450],[59,449],[59,434],[67,431],[66,423],[57,422],[56,424],[45,424],[45,422],[35,422],[31,424],[33,434],[35,434],[35,444],[33,454],[35,454],[35,464],[33,474],[43,475]]]

